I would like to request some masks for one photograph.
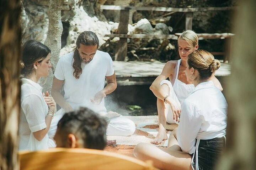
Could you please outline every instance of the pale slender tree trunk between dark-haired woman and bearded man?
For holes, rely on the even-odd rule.
[[[61,49],[61,36],[63,32],[61,21],[61,10],[63,0],[50,0],[49,1],[49,29],[44,44],[49,47],[51,52],[51,63],[54,68],[59,61],[59,54]],[[53,72],[54,73],[54,72]],[[50,72],[45,80],[41,81],[43,91],[49,91],[52,88],[53,73]]]

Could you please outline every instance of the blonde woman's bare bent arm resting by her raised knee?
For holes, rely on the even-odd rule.
[[[167,79],[167,77],[172,77],[172,74],[174,72],[175,63],[172,61],[169,61],[165,64],[164,68],[162,69],[162,73],[153,81],[149,89],[154,93],[154,95],[164,100],[164,97],[168,94],[162,89],[160,86],[160,83],[162,80]]]

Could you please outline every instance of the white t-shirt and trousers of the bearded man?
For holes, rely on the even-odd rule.
[[[90,63],[81,63],[82,74],[80,74],[79,79],[76,79],[73,75],[73,55],[74,52],[70,52],[60,57],[54,73],[55,78],[64,80],[65,101],[68,102],[73,109],[78,109],[82,106],[90,108],[100,115],[106,114],[104,98],[99,105],[92,103],[91,98],[94,98],[97,92],[103,90],[105,77],[114,74],[112,58],[108,53],[97,50]],[[61,116],[56,117],[56,119],[54,117],[48,133],[50,137],[54,136],[57,123],[64,112],[64,109],[60,109],[56,116],[58,114],[61,114]],[[107,135],[128,136],[132,135],[134,131],[134,122],[121,116],[111,119],[107,128]]]

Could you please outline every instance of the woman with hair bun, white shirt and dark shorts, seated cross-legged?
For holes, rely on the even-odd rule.
[[[139,143],[134,155],[153,160],[159,169],[214,169],[223,154],[226,135],[227,103],[210,77],[220,62],[204,50],[187,57],[186,78],[195,86],[182,104],[178,128],[169,137],[168,147]]]

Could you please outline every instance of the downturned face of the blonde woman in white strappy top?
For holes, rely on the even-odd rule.
[[[179,39],[178,40],[178,52],[181,57],[181,59],[186,59],[187,56],[190,55],[194,50],[198,49],[198,45],[193,46],[189,44],[186,40]]]

